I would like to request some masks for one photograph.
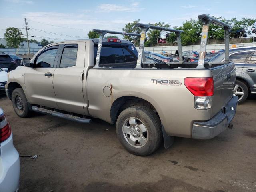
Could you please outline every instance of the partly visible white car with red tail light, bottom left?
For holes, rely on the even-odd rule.
[[[17,192],[20,179],[20,158],[12,142],[12,130],[0,108],[0,192]]]

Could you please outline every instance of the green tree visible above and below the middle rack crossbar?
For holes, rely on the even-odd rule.
[[[155,23],[155,24],[151,24],[151,23],[148,23],[150,25],[154,25],[154,26],[160,26],[160,27],[166,27],[166,28],[169,28],[170,25],[169,24],[166,24],[164,22],[158,22],[158,23]],[[156,29],[149,29],[148,32],[147,32],[147,41],[145,42],[145,46],[148,47],[148,46],[153,46],[156,44],[158,38],[161,36],[163,31],[161,30],[156,30]]]

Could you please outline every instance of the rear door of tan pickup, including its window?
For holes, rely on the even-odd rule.
[[[56,104],[61,110],[85,114],[84,104],[87,102],[84,101],[83,94],[86,84],[85,48],[85,42],[62,44],[60,48],[60,57],[54,71],[53,88]]]

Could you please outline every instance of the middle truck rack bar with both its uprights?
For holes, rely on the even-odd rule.
[[[141,68],[141,64],[146,62],[145,53],[144,53],[144,43],[145,43],[145,38],[146,38],[146,32],[149,29],[156,29],[156,30],[174,32],[177,36],[177,44],[178,44],[180,63],[183,62],[182,46],[181,46],[181,38],[180,38],[180,34],[183,32],[182,30],[171,29],[171,28],[160,27],[160,26],[154,26],[154,25],[149,25],[149,24],[144,24],[144,23],[136,23],[135,26],[141,28],[140,46],[139,46],[139,51],[138,51],[138,60],[137,60],[136,68]]]

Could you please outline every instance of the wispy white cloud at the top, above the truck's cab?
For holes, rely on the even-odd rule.
[[[118,12],[138,12],[144,8],[139,7],[138,2],[134,2],[131,4],[131,6],[120,6],[116,4],[100,4],[98,6],[98,10],[96,12],[113,12],[113,11],[118,11]]]

